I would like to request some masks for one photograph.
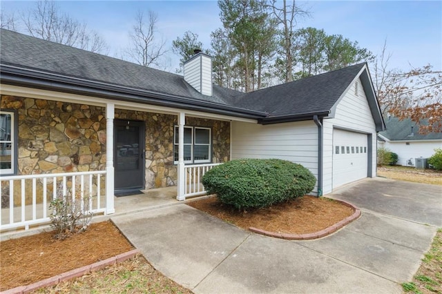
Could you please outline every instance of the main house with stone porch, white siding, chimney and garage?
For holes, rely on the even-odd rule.
[[[177,186],[183,200],[201,193],[203,169],[245,157],[302,164],[315,195],[376,176],[385,124],[366,63],[242,93],[212,84],[202,52],[184,77],[8,30],[0,53],[1,115],[13,121],[1,174],[34,178],[26,203],[55,195],[52,175],[65,194],[103,191],[105,213],[114,191]]]

